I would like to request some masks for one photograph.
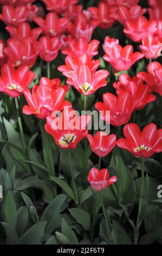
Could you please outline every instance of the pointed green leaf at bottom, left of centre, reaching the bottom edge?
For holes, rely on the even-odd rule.
[[[74,231],[69,227],[68,223],[62,218],[61,221],[61,233],[68,237],[69,245],[78,245],[77,237]]]

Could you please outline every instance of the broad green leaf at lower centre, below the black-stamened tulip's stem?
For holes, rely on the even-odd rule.
[[[90,230],[90,215],[88,212],[78,208],[71,208],[68,210],[77,223],[81,224],[85,230]]]

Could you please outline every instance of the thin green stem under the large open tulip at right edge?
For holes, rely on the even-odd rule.
[[[137,216],[137,229],[140,228],[140,217],[141,217],[141,209],[142,209],[142,195],[144,193],[144,180],[145,180],[145,160],[142,158],[141,161],[141,188],[140,188],[140,199],[139,199],[139,208],[138,208],[138,216]]]

